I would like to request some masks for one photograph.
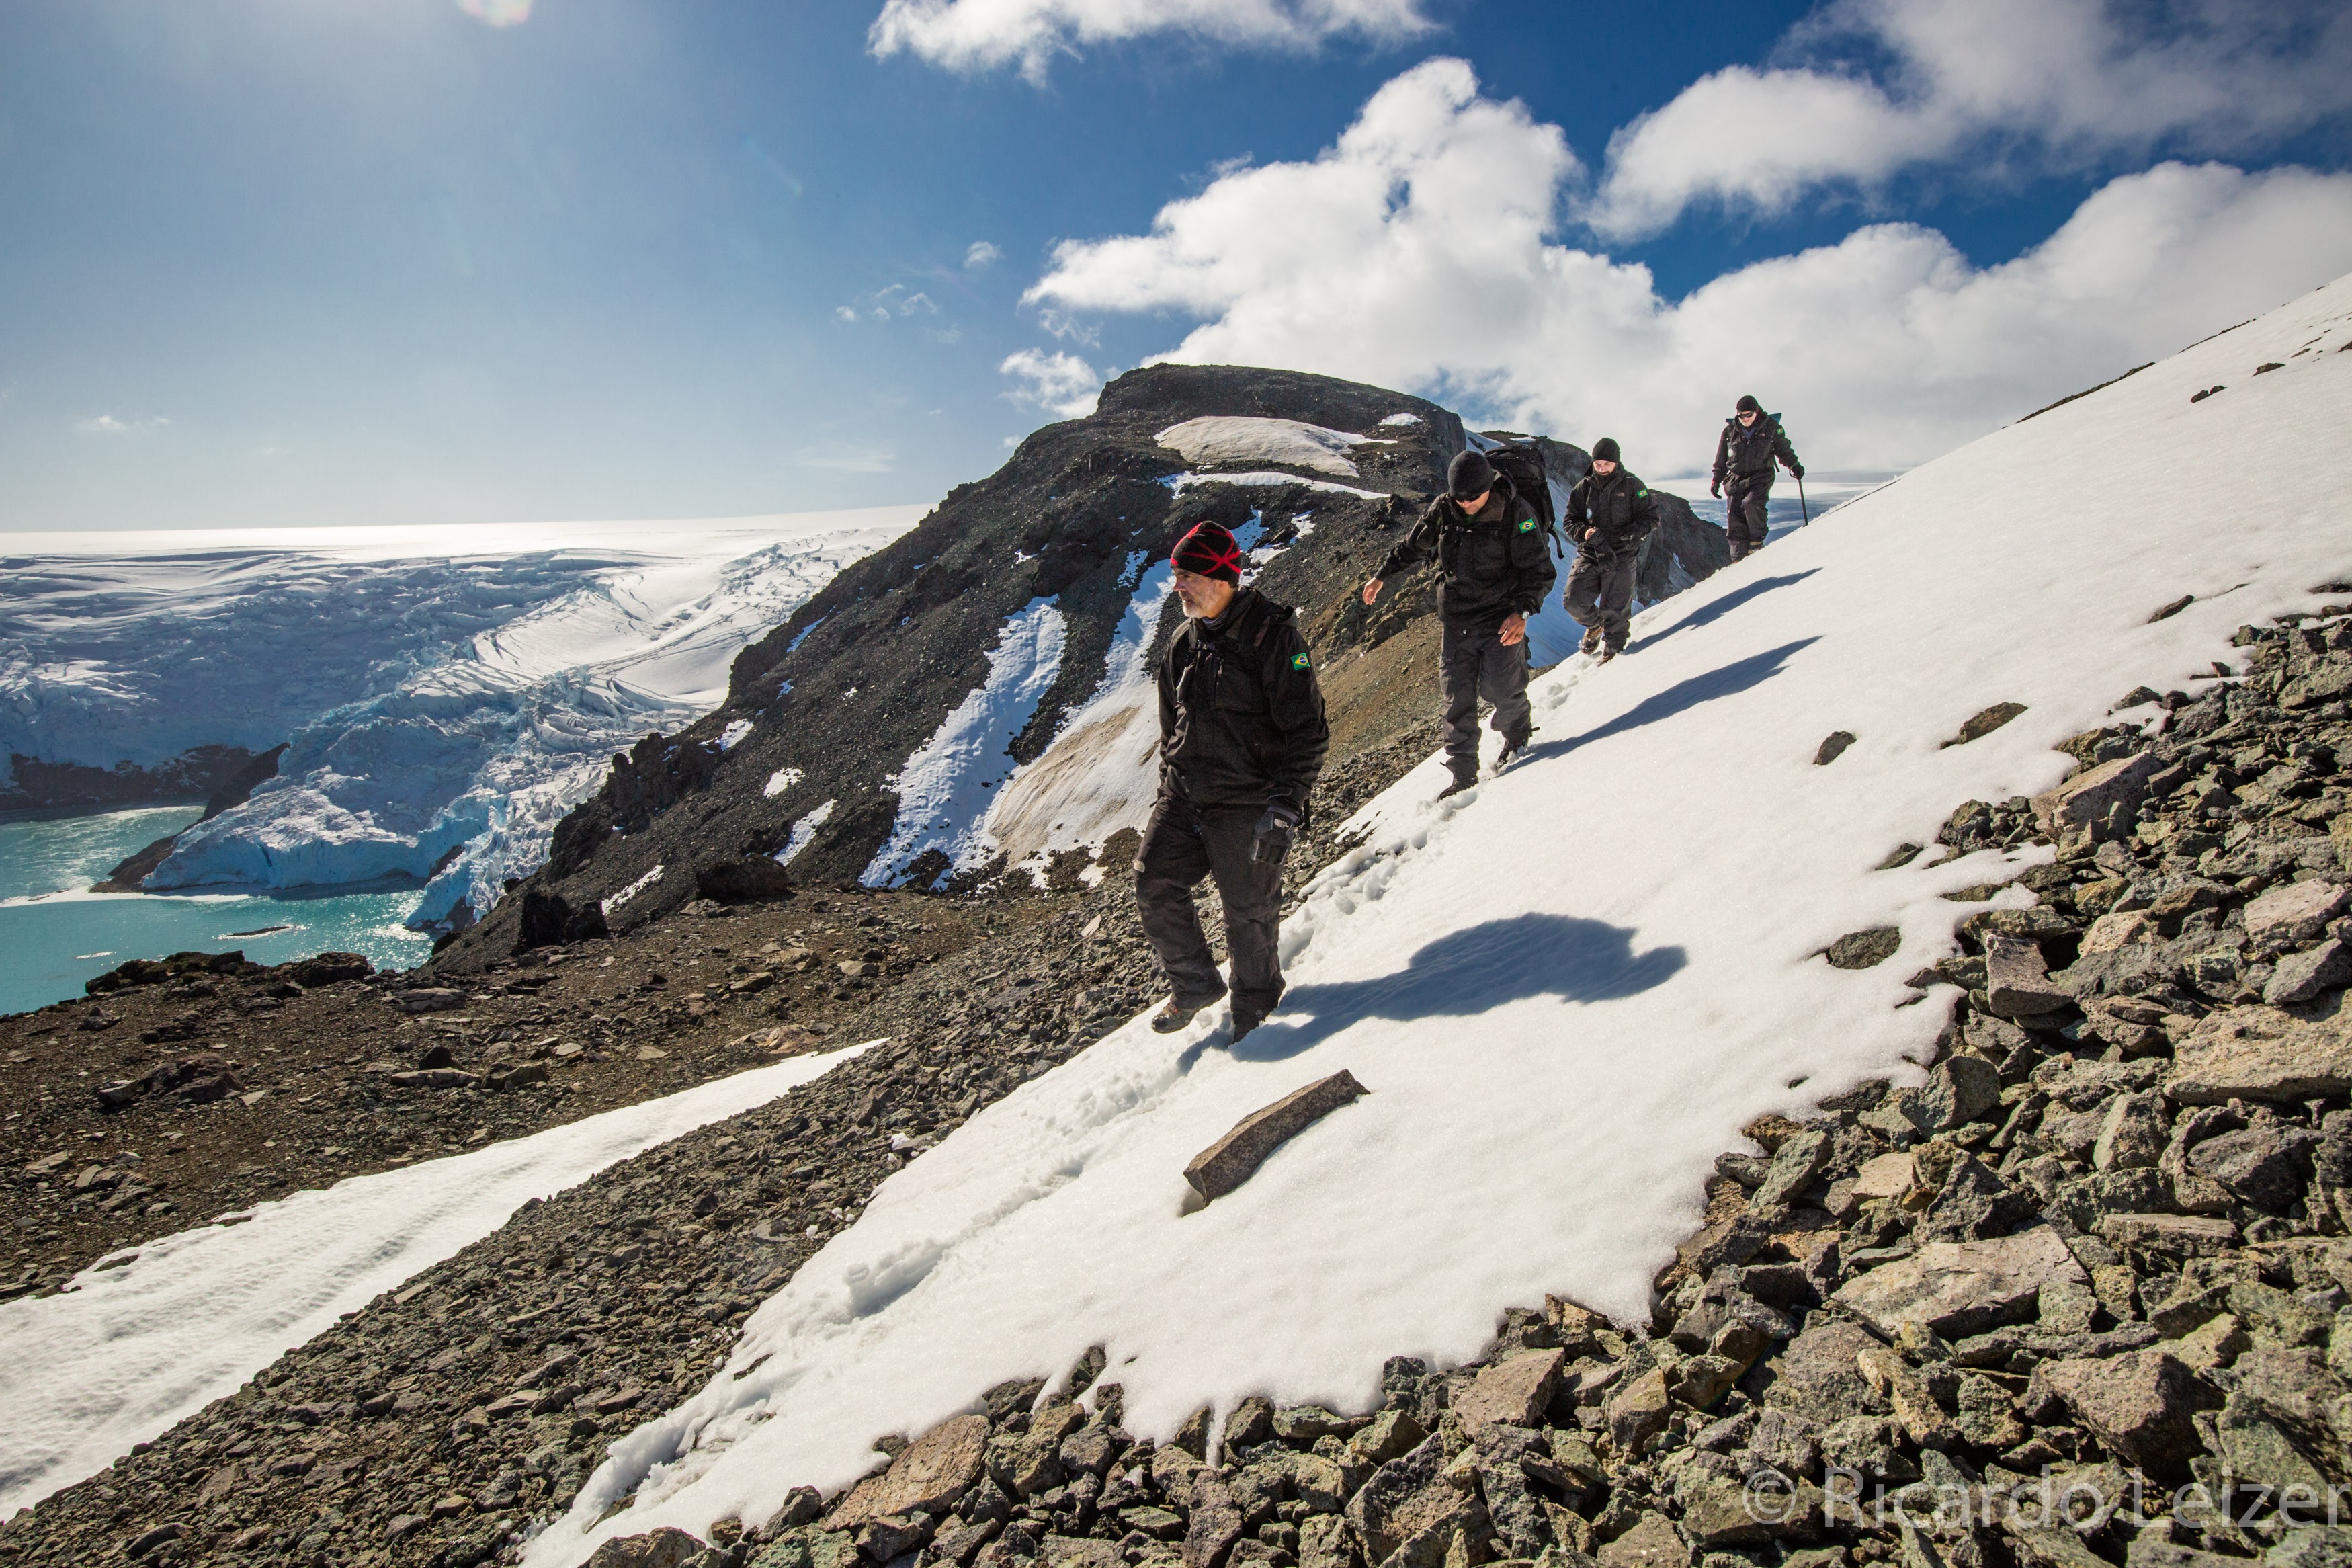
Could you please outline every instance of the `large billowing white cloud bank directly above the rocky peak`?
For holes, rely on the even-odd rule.
[[[2002,266],[1877,223],[1670,301],[1649,268],[1552,242],[1573,174],[1557,127],[1437,59],[1312,162],[1228,174],[1145,235],[1061,244],[1028,299],[1178,310],[1200,324],[1169,360],[1609,433],[1663,477],[1712,456],[1743,390],[1788,411],[1809,463],[1903,468],[2352,270],[2352,174],[2166,162]]]

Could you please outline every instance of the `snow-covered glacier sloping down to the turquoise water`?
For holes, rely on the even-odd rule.
[[[289,743],[146,886],[430,877],[466,924],[621,750],[924,508],[717,522],[16,534],[0,750],[155,764]]]

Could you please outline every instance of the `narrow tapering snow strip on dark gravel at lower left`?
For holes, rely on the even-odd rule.
[[[0,1305],[0,1516],[230,1394],[369,1298],[609,1164],[783,1095],[866,1046],[800,1056],[532,1138],[148,1241],[61,1295]],[[230,1218],[230,1215],[223,1215]],[[101,1272],[103,1269],[103,1272]]]

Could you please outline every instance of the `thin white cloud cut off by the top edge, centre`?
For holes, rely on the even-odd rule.
[[[1042,82],[1056,54],[1148,33],[1312,49],[1338,35],[1402,42],[1432,26],[1423,0],[884,0],[866,42],[875,56],[908,49],[948,71],[1018,63]]]

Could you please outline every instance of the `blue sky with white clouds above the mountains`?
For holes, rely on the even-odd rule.
[[[2006,2],[21,0],[0,529],[929,501],[1162,353],[1900,465],[2352,268],[2340,7]]]

